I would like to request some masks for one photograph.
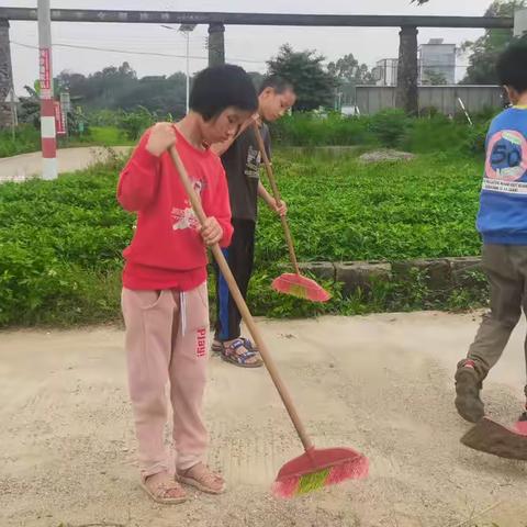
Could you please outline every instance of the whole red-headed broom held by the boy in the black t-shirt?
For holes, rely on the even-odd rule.
[[[269,183],[271,184],[272,194],[277,202],[277,206],[280,205],[281,197],[280,191],[278,190],[277,180],[272,172],[272,167],[269,161],[269,157],[264,145],[264,139],[261,138],[260,130],[258,124],[254,124],[256,139],[258,141],[258,147],[260,148],[261,158],[266,166],[267,176],[269,178]],[[299,296],[300,299],[311,300],[312,302],[327,302],[332,295],[316,283],[311,278],[304,277],[300,273],[299,262],[296,260],[296,254],[294,250],[293,237],[291,236],[291,229],[289,228],[288,218],[285,216],[280,216],[283,227],[283,234],[285,235],[285,242],[288,243],[289,257],[291,259],[291,265],[293,266],[293,272],[287,272],[276,278],[272,282],[272,289],[279,293],[291,294],[293,296]]]

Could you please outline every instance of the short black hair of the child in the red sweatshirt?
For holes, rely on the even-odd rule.
[[[189,106],[205,121],[210,121],[229,106],[256,112],[258,97],[244,68],[224,64],[205,68],[195,76]]]

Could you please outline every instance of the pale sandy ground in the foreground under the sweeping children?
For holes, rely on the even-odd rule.
[[[370,476],[290,501],[269,489],[301,446],[266,371],[210,360],[209,462],[223,496],[164,507],[138,486],[123,333],[0,334],[0,525],[461,527],[527,525],[526,466],[471,451],[452,372],[479,315],[415,313],[262,322],[319,447],[366,453]],[[512,422],[525,383],[518,328],[485,384]]]

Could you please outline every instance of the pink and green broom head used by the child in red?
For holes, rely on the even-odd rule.
[[[368,458],[350,448],[312,448],[285,463],[272,485],[277,497],[293,497],[368,475]]]

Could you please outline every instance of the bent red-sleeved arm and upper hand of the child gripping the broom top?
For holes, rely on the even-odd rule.
[[[119,178],[117,200],[123,209],[137,212],[152,202],[159,183],[159,157],[175,143],[170,123],[157,123],[143,135]]]

